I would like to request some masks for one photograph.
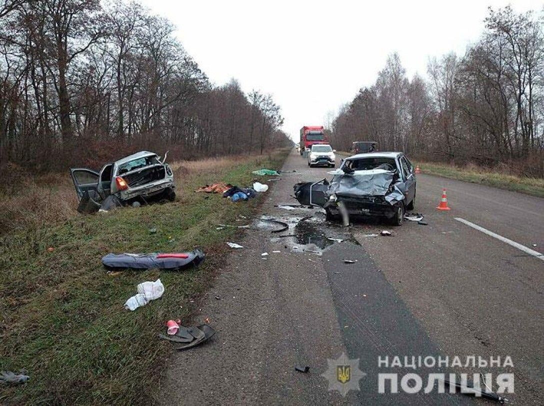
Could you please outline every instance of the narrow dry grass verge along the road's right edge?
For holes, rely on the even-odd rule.
[[[447,164],[414,161],[423,173],[444,178],[478,183],[494,188],[512,190],[526,195],[544,197],[544,179],[512,176],[499,172],[486,171],[478,167],[460,168]]]

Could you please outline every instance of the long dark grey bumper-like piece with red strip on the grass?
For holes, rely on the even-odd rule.
[[[181,270],[190,265],[197,266],[204,260],[200,249],[182,253],[162,254],[108,254],[102,257],[102,264],[108,270],[151,269]]]

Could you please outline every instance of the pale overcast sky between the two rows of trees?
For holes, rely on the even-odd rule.
[[[238,79],[246,92],[271,93],[285,130],[305,125],[371,85],[397,51],[411,77],[429,57],[463,54],[484,29],[487,7],[541,10],[542,0],[242,1],[141,0],[168,17],[213,83]]]

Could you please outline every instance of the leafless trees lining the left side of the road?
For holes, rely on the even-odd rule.
[[[138,3],[0,0],[2,163],[56,171],[144,148],[187,159],[289,142],[270,95],[213,85],[174,32]]]

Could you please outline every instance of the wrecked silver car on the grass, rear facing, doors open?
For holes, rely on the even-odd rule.
[[[94,213],[123,205],[174,201],[174,173],[165,164],[166,154],[161,160],[156,153],[137,152],[104,165],[100,172],[70,168],[79,199],[77,210]]]

